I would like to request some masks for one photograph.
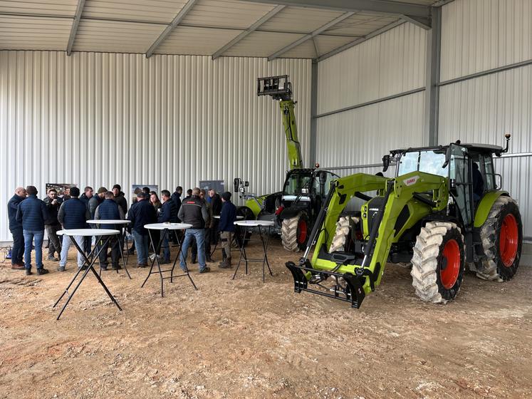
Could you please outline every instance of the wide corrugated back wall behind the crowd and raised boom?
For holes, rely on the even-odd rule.
[[[288,73],[308,159],[311,61],[0,51],[0,241],[19,185],[120,183],[185,190],[244,177],[280,190],[287,167],[278,103],[256,78]],[[129,194],[128,194],[129,195]]]

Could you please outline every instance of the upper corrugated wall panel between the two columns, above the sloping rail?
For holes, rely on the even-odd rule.
[[[318,64],[318,114],[425,85],[427,32],[402,24]]]

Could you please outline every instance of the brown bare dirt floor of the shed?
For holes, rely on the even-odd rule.
[[[198,291],[179,278],[161,298],[158,277],[140,288],[148,269],[130,259],[132,280],[103,274],[123,311],[89,275],[56,321],[70,257],[45,276],[0,264],[0,398],[532,397],[524,264],[504,284],[466,276],[445,306],[419,301],[410,271],[390,265],[357,310],[295,294],[284,262],[299,255],[273,241],[266,284],[258,264],[233,281],[196,264]]]

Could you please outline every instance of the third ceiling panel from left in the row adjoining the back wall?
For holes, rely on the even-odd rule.
[[[177,26],[157,47],[160,54],[212,55],[242,31],[233,29],[190,28]]]

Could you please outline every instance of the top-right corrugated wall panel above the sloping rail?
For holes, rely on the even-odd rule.
[[[457,0],[442,9],[441,81],[532,58],[531,0]]]

